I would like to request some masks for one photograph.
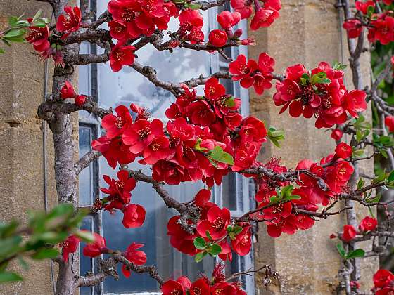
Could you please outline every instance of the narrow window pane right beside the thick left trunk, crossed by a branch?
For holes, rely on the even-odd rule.
[[[80,126],[80,157],[85,155],[89,150],[91,150],[91,128],[86,126]],[[93,199],[92,190],[92,165],[82,170],[80,173],[80,205],[89,205]]]

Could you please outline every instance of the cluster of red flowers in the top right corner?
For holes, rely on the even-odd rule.
[[[392,0],[383,0],[383,3],[390,5]],[[355,6],[362,18],[350,18],[343,23],[349,38],[359,37],[364,27],[367,27],[370,42],[380,41],[386,45],[394,41],[393,11],[374,13],[375,1],[356,1]]]

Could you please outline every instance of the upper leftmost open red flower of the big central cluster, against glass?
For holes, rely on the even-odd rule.
[[[114,114],[106,114],[101,121],[101,126],[106,129],[106,136],[108,139],[120,136],[130,124],[132,124],[132,116],[129,109],[125,105],[119,105],[115,109]]]

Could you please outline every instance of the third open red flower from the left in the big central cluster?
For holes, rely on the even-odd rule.
[[[170,141],[166,136],[156,136],[145,147],[143,156],[145,163],[149,165],[153,165],[159,160],[170,158]]]

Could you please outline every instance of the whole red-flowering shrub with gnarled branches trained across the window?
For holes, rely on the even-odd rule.
[[[355,243],[376,236],[389,237],[390,233],[383,235],[379,232],[378,221],[372,211],[371,216],[364,216],[357,226],[352,204],[388,206],[379,202],[371,190],[394,188],[394,173],[382,171],[376,177],[368,177],[371,178],[368,185],[364,177],[354,180],[352,176],[356,178],[359,175],[357,161],[370,159],[378,153],[393,158],[391,148],[394,140],[387,135],[385,126],[389,133],[393,133],[394,109],[377,94],[382,79],[392,70],[392,63],[387,66],[387,73],[383,72],[386,73],[385,77],[380,78],[379,75],[371,84],[371,89],[363,89],[358,83],[359,59],[364,48],[364,30],[368,31],[370,42],[388,44],[394,41],[394,16],[389,9],[391,1],[385,0],[383,4],[380,1],[356,1],[354,18],[349,17],[348,4],[341,2],[346,15],[343,27],[348,32],[348,38],[358,38],[357,45],[349,41],[355,89],[345,86],[345,66],[341,63],[330,65],[322,61],[312,70],[301,64],[291,65],[282,75],[274,73],[275,60],[267,53],[260,53],[258,60],[248,59],[243,54],[232,60],[226,55],[224,48],[255,43],[253,37],[241,39],[242,29],[237,28],[241,20],[251,18],[251,30],[269,27],[279,18],[279,0],[230,0],[232,11],[217,14],[220,28],[210,30],[206,36],[201,11],[222,6],[226,1],[110,0],[108,11],[96,20],[89,19],[86,0],[81,0],[80,7],[66,6],[65,0],[50,2],[56,25],[49,25],[49,20],[41,18],[41,13],[27,20],[10,18],[9,27],[0,33],[0,39],[6,44],[27,41],[42,58],[53,58],[55,61],[53,93],[40,105],[38,114],[50,123],[55,134],[56,184],[60,202],[72,202],[77,206],[77,176],[102,155],[111,168],[119,167],[120,171],[116,178],[103,176],[106,183],[101,188],[103,197],[96,199],[91,212],[121,211],[125,228],[139,228],[148,213],[140,204],[134,204],[132,193],[139,181],[151,183],[165,204],[177,211],[176,215],[165,221],[170,244],[174,249],[194,256],[196,262],[202,261],[205,256],[222,261],[231,261],[233,253],[246,256],[252,248],[255,223],[265,223],[268,235],[277,238],[282,234],[293,235],[297,230],[312,228],[317,218],[328,218],[346,211],[348,217],[352,217],[348,218],[351,224],[344,225],[341,232],[331,237],[338,237],[343,242],[336,247],[343,258],[339,276],[345,282],[346,293],[360,288],[357,280],[350,280],[350,273],[357,268],[355,258],[365,254],[363,249],[355,248]],[[382,10],[381,5],[385,9]],[[170,21],[175,21],[177,29],[167,32],[168,38],[163,41],[163,31],[168,29]],[[108,29],[100,27],[103,23],[108,25]],[[76,48],[82,41],[101,46],[103,53],[79,54]],[[186,48],[219,53],[229,61],[228,72],[220,71],[209,77],[201,76],[178,83],[162,81],[153,68],[139,64],[137,51],[147,44],[158,51],[172,52],[175,48]],[[153,118],[149,110],[134,104],[118,105],[115,112],[112,109],[103,110],[93,98],[78,94],[71,83],[74,67],[106,62],[109,62],[113,72],[132,67],[155,86],[170,91],[174,95],[174,103],[165,110],[168,120]],[[337,142],[335,150],[329,155],[320,155],[324,157],[319,161],[301,159],[294,169],[286,167],[277,158],[260,162],[258,155],[267,145],[267,140],[279,147],[284,132],[266,126],[257,117],[243,116],[241,99],[227,93],[220,79],[239,81],[240,86],[246,89],[253,86],[260,96],[263,93],[267,96],[272,81],[276,80],[273,101],[281,106],[279,114],[288,109],[294,118],[301,115],[307,119],[315,117],[317,129],[331,131],[331,138]],[[203,86],[201,95],[197,91],[200,85]],[[372,138],[368,136],[373,130],[361,114],[367,110],[368,100],[374,101],[374,110],[383,114],[384,121],[381,128],[383,134],[374,133]],[[93,141],[91,152],[81,157],[79,162],[72,163],[73,150],[59,146],[70,147],[72,131],[69,130],[71,122],[67,116],[78,110],[100,117],[105,134]],[[351,136],[350,145],[345,142],[345,133]],[[366,145],[375,148],[374,155],[364,155]],[[151,176],[130,170],[127,165],[134,162],[151,168]],[[251,178],[256,185],[256,208],[241,216],[231,216],[228,208],[212,202],[212,188],[221,185],[223,177],[229,173]],[[163,183],[179,185],[192,181],[201,181],[205,186],[196,195],[189,196],[190,201],[186,203],[170,197],[163,186]],[[331,211],[343,199],[345,208]],[[62,238],[50,241],[53,246],[59,242],[63,249],[63,259],[57,259],[61,273],[58,280],[68,277],[65,281],[77,282],[72,286],[60,282],[58,294],[72,294],[76,286],[93,286],[108,275],[116,278],[117,263],[122,264],[125,277],[132,272],[151,275],[160,284],[163,294],[246,294],[239,281],[232,282],[242,273],[227,277],[222,263],[215,266],[210,279],[201,275],[194,281],[184,276],[176,280],[174,277],[163,280],[153,265],[145,265],[147,256],[143,251],[144,244],[132,241],[124,251],[109,249],[101,235],[94,233],[90,236],[73,228],[82,217],[78,214],[75,214],[77,218],[72,217],[74,208],[69,208],[67,217],[72,223],[64,225]],[[8,238],[1,233],[0,236]],[[77,251],[80,240],[87,242],[82,249],[84,256],[94,258],[106,255],[101,261],[102,273],[74,277],[69,258]],[[40,245],[37,246],[39,251]],[[15,243],[16,246],[18,243]],[[51,255],[55,254],[58,254],[56,249]],[[5,263],[1,265],[6,268],[8,261],[16,256],[10,252],[4,256],[5,262],[0,261]],[[46,253],[46,256],[49,257],[49,254]],[[349,263],[352,263],[351,268]],[[277,277],[277,273],[272,272],[269,265],[259,270],[263,269],[265,285],[269,285],[269,277]],[[249,270],[246,274],[259,270]],[[392,281],[393,275],[388,270],[379,270],[374,275],[376,294],[393,291]]]

